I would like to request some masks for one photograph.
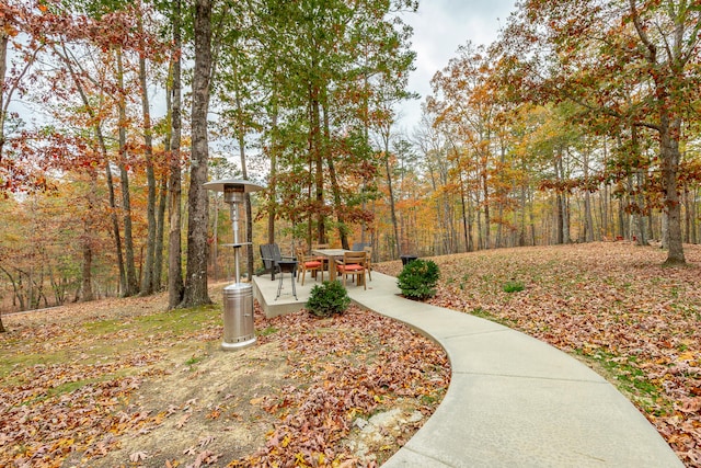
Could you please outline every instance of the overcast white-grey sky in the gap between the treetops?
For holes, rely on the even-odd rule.
[[[421,103],[430,94],[430,79],[456,56],[462,44],[490,45],[514,11],[515,0],[420,0],[418,12],[405,14],[414,28],[412,48],[416,70],[409,78],[411,91],[421,100],[402,106],[400,127],[412,132],[421,118]]]

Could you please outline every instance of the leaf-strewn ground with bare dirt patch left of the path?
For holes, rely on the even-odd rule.
[[[165,311],[163,296],[3,322],[0,466],[376,466],[450,375],[435,343],[357,307],[256,310],[257,343],[238,352],[219,350],[220,306]]]

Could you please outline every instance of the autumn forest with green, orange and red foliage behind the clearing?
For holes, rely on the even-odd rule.
[[[685,262],[693,2],[520,2],[499,39],[437,71],[403,132],[417,7],[0,5],[0,310],[163,288],[171,307],[207,301],[230,224],[202,184],[232,176],[267,185],[245,208],[254,246],[363,242],[382,261],[629,239]]]

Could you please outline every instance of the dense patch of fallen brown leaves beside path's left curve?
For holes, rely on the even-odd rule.
[[[281,345],[290,351],[291,376],[309,387],[288,386],[280,395],[251,401],[277,414],[280,423],[266,446],[241,464],[354,465],[355,456],[338,444],[356,416],[400,397],[439,399],[447,387],[443,351],[390,319],[354,307],[323,321],[298,313],[266,322],[286,330]]]

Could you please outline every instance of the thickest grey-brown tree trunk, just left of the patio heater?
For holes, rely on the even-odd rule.
[[[193,75],[192,162],[187,196],[187,273],[181,307],[211,304],[207,292],[207,113],[211,72],[211,1],[195,1],[195,70]]]

